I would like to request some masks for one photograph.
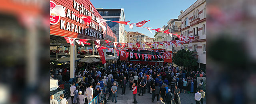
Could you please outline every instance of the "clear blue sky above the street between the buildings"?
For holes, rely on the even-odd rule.
[[[170,19],[176,19],[180,10],[185,11],[196,0],[90,0],[95,8],[117,9],[124,8],[126,21],[137,23],[138,21],[150,20],[142,27],[161,28],[167,25]],[[134,26],[130,29],[125,26],[126,31],[138,31],[146,36],[154,38],[154,30],[151,34],[146,28]]]

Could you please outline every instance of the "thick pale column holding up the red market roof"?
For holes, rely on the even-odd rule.
[[[74,42],[75,45],[75,42]],[[75,46],[70,44],[70,78],[75,77]]]

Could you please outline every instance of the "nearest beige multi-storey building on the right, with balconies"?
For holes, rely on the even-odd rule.
[[[201,70],[206,69],[206,0],[197,0],[184,12],[180,11],[178,19],[182,21],[181,34],[195,36],[188,44],[183,44],[185,50],[194,51]]]

